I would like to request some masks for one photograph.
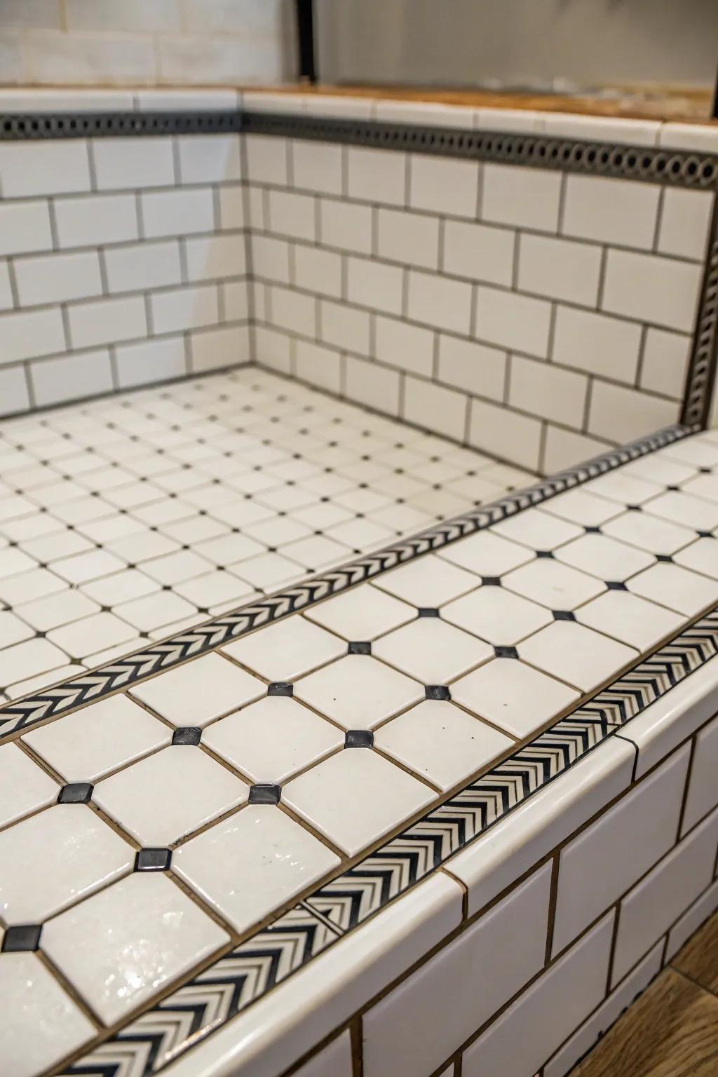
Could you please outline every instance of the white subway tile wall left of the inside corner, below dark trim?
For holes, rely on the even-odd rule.
[[[0,415],[249,362],[238,135],[6,142],[0,192]]]

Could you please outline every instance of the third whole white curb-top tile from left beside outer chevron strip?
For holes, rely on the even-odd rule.
[[[350,856],[434,797],[427,785],[366,747],[344,749],[282,788],[282,801]]]

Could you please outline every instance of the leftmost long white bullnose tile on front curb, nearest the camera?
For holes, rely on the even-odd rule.
[[[277,1077],[453,931],[462,896],[441,872],[420,882],[165,1074]]]

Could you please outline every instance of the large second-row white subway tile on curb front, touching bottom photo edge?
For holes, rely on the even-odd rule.
[[[462,1077],[533,1077],[603,999],[614,917],[604,917],[464,1051]]]

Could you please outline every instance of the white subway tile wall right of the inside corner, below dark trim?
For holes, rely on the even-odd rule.
[[[277,368],[277,333],[320,342],[321,364],[299,370],[284,346],[279,368],[538,472],[678,420],[709,193],[256,135],[247,148],[254,317],[273,331],[256,335],[259,365]]]

